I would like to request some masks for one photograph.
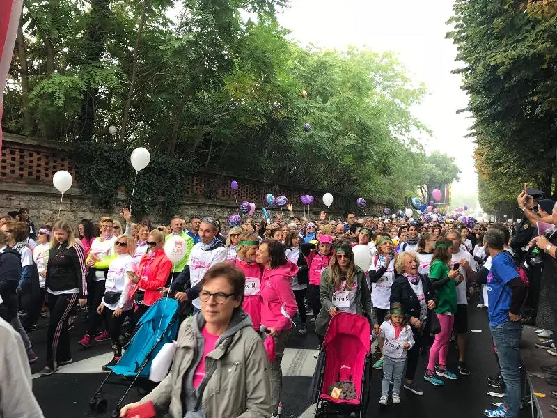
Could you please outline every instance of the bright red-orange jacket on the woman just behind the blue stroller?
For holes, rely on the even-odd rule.
[[[164,254],[164,249],[159,249],[155,252],[155,258],[151,261],[153,253],[148,252],[139,261],[139,267],[137,268],[137,275],[141,277],[141,280],[130,289],[130,297],[134,295],[137,289],[145,289],[145,297],[143,297],[143,303],[150,307],[152,304],[157,302],[161,298],[159,293],[159,288],[166,286],[166,281],[172,270],[172,262],[168,259],[166,254]],[[147,278],[143,278],[145,275],[143,270],[146,266],[149,266],[147,272]]]

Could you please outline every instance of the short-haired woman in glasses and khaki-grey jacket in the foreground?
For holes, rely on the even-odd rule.
[[[182,417],[269,417],[267,355],[242,311],[245,277],[217,263],[201,281],[201,311],[178,332],[168,376],[141,401],[125,405],[120,417],[152,402],[157,412]]]

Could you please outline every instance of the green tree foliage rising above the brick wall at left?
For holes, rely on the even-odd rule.
[[[421,185],[448,181],[446,172],[423,173],[425,155],[413,139],[427,132],[410,111],[425,87],[411,82],[392,54],[291,42],[276,21],[284,4],[26,1],[30,93],[22,98],[15,59],[3,125],[79,142],[91,173],[104,172],[110,160],[89,159],[87,144],[95,143],[146,146],[152,155],[185,160],[188,173],[248,173],[391,205]],[[256,18],[242,17],[245,10]],[[22,56],[16,51],[15,58]],[[31,111],[31,126],[24,111]],[[110,125],[118,127],[114,137]]]

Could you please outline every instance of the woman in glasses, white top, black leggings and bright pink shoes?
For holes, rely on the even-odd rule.
[[[116,237],[113,235],[114,224],[111,218],[101,217],[99,225],[100,237],[93,240],[86,259],[86,264],[89,266],[87,283],[90,314],[88,329],[78,341],[78,344],[83,348],[91,346],[91,338],[101,325],[104,325],[104,330],[95,336],[94,340],[106,341],[110,338],[107,331],[107,321],[103,316],[96,314],[96,309],[102,302],[102,295],[104,295],[104,280],[109,272]]]

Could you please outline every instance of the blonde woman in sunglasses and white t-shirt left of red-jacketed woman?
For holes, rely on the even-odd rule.
[[[112,341],[113,359],[102,366],[102,370],[110,371],[122,357],[122,343],[120,342],[120,327],[124,319],[132,312],[132,302],[129,290],[132,282],[127,278],[130,272],[137,270],[133,254],[135,240],[132,235],[120,235],[114,242],[113,260],[109,265],[109,272],[104,284],[104,296],[97,307],[97,314],[104,315],[108,323],[108,332]]]

